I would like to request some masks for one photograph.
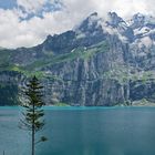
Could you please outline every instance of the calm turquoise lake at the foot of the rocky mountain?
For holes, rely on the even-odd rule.
[[[37,155],[155,155],[155,107],[45,107]],[[19,107],[0,107],[0,155],[30,155]]]

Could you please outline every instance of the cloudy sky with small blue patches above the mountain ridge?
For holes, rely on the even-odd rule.
[[[48,34],[79,24],[92,12],[108,11],[128,19],[134,13],[155,14],[155,0],[0,0],[0,46],[33,46]]]

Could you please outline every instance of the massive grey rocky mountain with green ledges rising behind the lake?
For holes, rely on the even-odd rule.
[[[111,12],[107,19],[93,13],[74,30],[49,35],[38,46],[1,50],[0,71],[21,75],[18,82],[10,80],[16,85],[38,75],[46,104],[111,106],[154,100],[154,18],[138,13],[125,22]],[[1,83],[9,78],[1,76]]]

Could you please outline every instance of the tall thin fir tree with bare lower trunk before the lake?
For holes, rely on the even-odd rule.
[[[42,89],[43,86],[41,86],[37,76],[33,76],[23,89],[24,102],[21,102],[21,106],[24,108],[20,120],[20,127],[31,132],[31,155],[35,155],[35,144],[48,140],[44,136],[41,136],[38,141],[35,140],[35,133],[44,126]]]

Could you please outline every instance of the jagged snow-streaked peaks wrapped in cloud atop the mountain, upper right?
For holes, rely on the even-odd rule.
[[[137,13],[130,21],[123,20],[115,12],[108,12],[106,20],[92,13],[75,29],[79,35],[93,35],[95,33],[115,34],[120,39],[134,42],[147,37],[155,40],[155,18]],[[153,42],[154,43],[154,42]]]

